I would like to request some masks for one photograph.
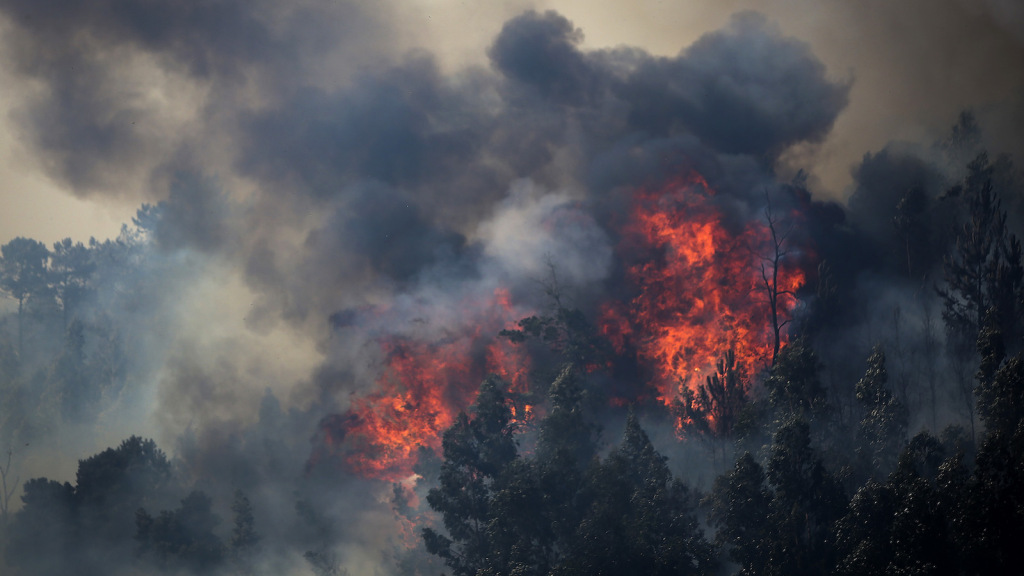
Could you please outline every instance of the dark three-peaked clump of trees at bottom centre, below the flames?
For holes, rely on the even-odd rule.
[[[602,461],[571,365],[551,389],[532,457],[515,453],[507,403],[493,380],[481,386],[473,418],[461,415],[444,434],[440,486],[427,501],[446,535],[425,529],[427,550],[456,575],[711,573],[713,548],[695,499],[636,417]],[[488,456],[496,453],[502,457]]]

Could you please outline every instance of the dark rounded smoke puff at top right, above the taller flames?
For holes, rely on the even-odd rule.
[[[745,12],[676,58],[642,63],[623,90],[637,129],[671,134],[681,124],[719,152],[762,158],[820,141],[849,85],[829,82],[806,44]]]

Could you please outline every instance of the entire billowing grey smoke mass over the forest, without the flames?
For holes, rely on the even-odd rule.
[[[1020,33],[1019,10],[985,6]],[[729,231],[763,220],[768,204],[803,215],[793,242],[843,286],[845,313],[798,319],[828,342],[826,362],[902,333],[898,369],[925,370],[941,342],[926,346],[937,313],[921,295],[950,216],[926,210],[921,246],[893,221],[913,190],[942,206],[951,176],[940,153],[893,143],[867,154],[848,209],[780,177],[830,146],[857,106],[859,74],[827,67],[755,12],[666,56],[591,47],[565,15],[526,11],[496,30],[480,64],[451,70],[406,49],[415,42],[401,40],[395,10],[0,2],[6,64],[34,92],[14,123],[47,175],[79,196],[146,202],[110,252],[122,259],[101,270],[92,302],[105,316],[88,319],[125,346],[121,392],[75,442],[53,448],[66,430],[34,433],[45,447],[30,459],[153,436],[223,519],[234,489],[249,494],[274,542],[268,570],[298,572],[319,546],[353,573],[396,572],[390,556],[409,542],[390,488],[352,475],[322,422],[400,379],[382,342],[463,346],[489,370],[494,353],[477,342],[550,310],[553,289],[591,318],[627,297],[631,199],[690,172],[715,191]],[[979,118],[1001,117],[993,110]],[[809,279],[809,306],[827,303],[812,286],[825,280]],[[904,324],[890,331],[894,310]],[[837,378],[855,381],[860,368],[838,366]],[[445,400],[465,404],[466,392]],[[665,428],[659,448],[671,451]],[[713,471],[693,468],[707,486]]]

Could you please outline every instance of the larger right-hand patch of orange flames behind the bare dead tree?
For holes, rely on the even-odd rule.
[[[601,311],[601,331],[622,354],[636,351],[653,373],[658,400],[671,405],[735,353],[746,370],[766,367],[774,348],[769,290],[778,266],[777,325],[792,317],[804,274],[773,241],[769,222],[728,230],[699,174],[642,190],[623,229],[621,257],[635,289],[629,302]],[[778,250],[776,250],[778,248]],[[784,331],[780,343],[784,343]]]

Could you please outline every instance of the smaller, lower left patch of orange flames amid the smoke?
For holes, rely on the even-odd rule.
[[[420,447],[440,453],[441,435],[466,410],[480,381],[497,374],[512,393],[526,394],[529,360],[497,338],[517,319],[507,291],[467,305],[461,327],[434,341],[390,337],[380,341],[385,367],[376,390],[352,400],[343,416],[322,423],[324,449],[365,478],[396,482],[413,475]],[[531,407],[517,409],[525,419]]]

